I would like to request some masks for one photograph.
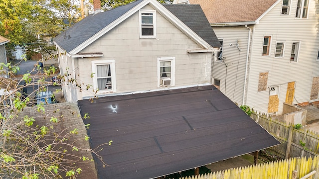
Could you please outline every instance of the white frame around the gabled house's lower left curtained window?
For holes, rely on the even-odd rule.
[[[112,89],[99,89],[98,93],[116,92],[115,60],[93,60],[91,63],[93,73],[93,88],[95,90],[98,89],[97,66],[110,65]]]

